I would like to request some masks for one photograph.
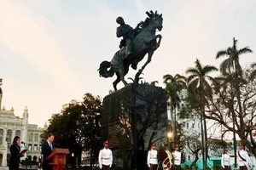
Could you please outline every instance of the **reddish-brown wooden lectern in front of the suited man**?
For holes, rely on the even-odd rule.
[[[52,162],[49,162],[49,165],[53,166],[53,170],[63,170],[66,165],[67,154],[69,154],[67,149],[54,148],[46,159],[52,158]]]

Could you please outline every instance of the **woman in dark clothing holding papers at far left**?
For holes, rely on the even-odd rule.
[[[19,170],[20,168],[20,157],[23,156],[20,154],[20,137],[15,136],[13,144],[10,145],[10,158],[9,158],[9,170]]]

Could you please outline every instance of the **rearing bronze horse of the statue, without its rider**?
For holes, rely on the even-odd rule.
[[[122,81],[124,85],[127,85],[125,81],[125,75],[129,71],[129,66],[134,70],[137,70],[137,64],[148,54],[148,59],[137,71],[134,78],[134,82],[138,82],[139,76],[143,73],[144,68],[150,63],[154,51],[160,47],[161,35],[155,35],[155,31],[162,30],[163,18],[162,14],[158,14],[157,11],[146,12],[148,17],[145,21],[141,22],[140,28],[135,32],[135,37],[132,40],[132,54],[126,56],[125,48],[119,49],[114,55],[111,62],[102,61],[100,68],[98,69],[100,77],[113,77],[114,73],[117,79],[113,82],[113,88],[117,90],[117,84]],[[157,41],[158,39],[158,41]],[[109,69],[110,68],[110,69]]]

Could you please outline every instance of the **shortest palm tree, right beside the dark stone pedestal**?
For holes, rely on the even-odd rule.
[[[171,115],[172,115],[172,133],[173,141],[176,143],[176,109],[180,108],[181,99],[179,93],[183,88],[186,87],[186,77],[176,74],[174,77],[172,75],[165,75],[164,83],[166,84],[166,94],[168,99],[171,100]]]

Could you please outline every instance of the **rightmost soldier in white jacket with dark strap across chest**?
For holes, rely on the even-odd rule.
[[[239,170],[247,170],[249,168],[249,156],[245,150],[245,144],[239,144],[239,151],[237,153]]]

